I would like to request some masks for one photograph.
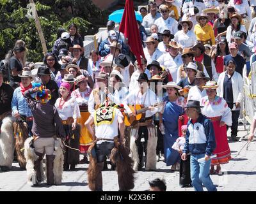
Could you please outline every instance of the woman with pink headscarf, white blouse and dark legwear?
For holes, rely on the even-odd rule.
[[[77,126],[77,119],[81,117],[79,106],[75,98],[70,95],[70,84],[63,82],[60,85],[60,95],[55,103],[67,138],[65,143],[72,148],[79,149],[80,127]],[[74,170],[79,163],[79,152],[67,148],[64,157],[64,170]]]

